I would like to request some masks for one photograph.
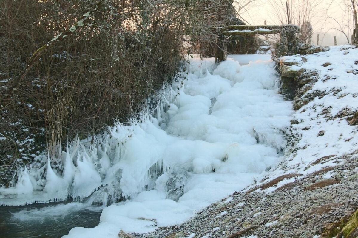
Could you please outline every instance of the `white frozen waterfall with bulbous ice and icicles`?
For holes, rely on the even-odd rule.
[[[153,112],[76,140],[61,158],[39,156],[16,186],[0,189],[1,204],[103,204],[97,227],[66,237],[117,237],[183,222],[262,179],[284,159],[293,111],[277,93],[274,62],[260,57],[243,66],[240,56],[190,59]]]

